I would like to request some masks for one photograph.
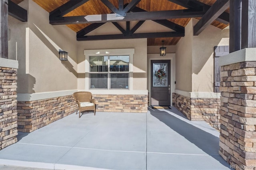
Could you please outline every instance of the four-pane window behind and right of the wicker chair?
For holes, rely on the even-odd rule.
[[[89,56],[90,89],[129,89],[130,56]]]

